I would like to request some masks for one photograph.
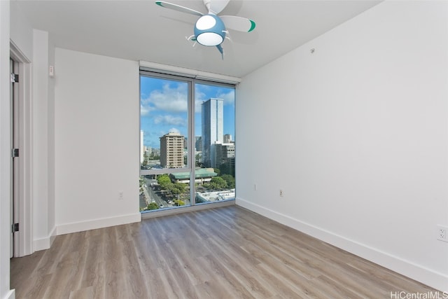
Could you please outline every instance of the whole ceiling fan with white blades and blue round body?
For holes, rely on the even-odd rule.
[[[255,29],[255,22],[247,18],[237,17],[236,15],[220,15],[230,0],[203,0],[204,5],[209,13],[200,13],[191,8],[172,4],[165,1],[155,1],[155,4],[165,8],[180,11],[181,13],[189,13],[197,15],[200,18],[195,24],[195,34],[188,37],[188,40],[200,43],[202,46],[216,46],[224,59],[224,51],[221,44],[224,39],[229,39],[227,29],[239,32],[251,32]],[[193,46],[195,46],[195,44]]]

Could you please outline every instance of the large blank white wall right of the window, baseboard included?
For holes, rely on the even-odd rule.
[[[447,20],[386,1],[243,78],[237,204],[448,291]]]

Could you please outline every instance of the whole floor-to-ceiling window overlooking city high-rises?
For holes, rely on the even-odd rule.
[[[141,71],[141,211],[223,200],[235,200],[235,85]]]

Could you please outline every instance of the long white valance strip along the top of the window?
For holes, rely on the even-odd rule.
[[[238,84],[241,82],[241,78],[227,76],[223,74],[209,73],[207,71],[198,71],[197,69],[187,69],[186,67],[175,67],[169,64],[160,64],[156,62],[147,62],[140,60],[140,67],[143,67],[146,71],[155,71],[156,73],[184,76],[189,78],[195,78],[198,80],[214,81],[228,84]]]

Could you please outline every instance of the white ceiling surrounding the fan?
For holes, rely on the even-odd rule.
[[[215,47],[186,41],[197,17],[145,1],[14,0],[32,27],[60,48],[145,60],[228,76],[244,76],[366,11],[370,0],[230,1],[220,15],[256,22],[253,32],[230,32],[224,60]],[[171,0],[207,13],[202,0]]]

